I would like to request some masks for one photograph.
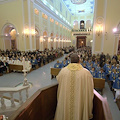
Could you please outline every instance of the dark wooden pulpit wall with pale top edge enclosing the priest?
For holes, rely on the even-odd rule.
[[[52,120],[57,105],[57,88],[55,84],[38,90],[9,120]],[[107,100],[95,90],[92,120],[112,120]]]

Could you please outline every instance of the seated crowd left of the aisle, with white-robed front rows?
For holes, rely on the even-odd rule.
[[[73,50],[74,47],[67,47]],[[19,50],[0,50],[0,75],[9,73],[9,71],[22,71],[23,57],[25,58],[25,69],[29,72],[31,69],[37,69],[55,59],[63,56],[62,48],[45,49],[44,51],[19,51]],[[17,67],[18,66],[18,67]]]

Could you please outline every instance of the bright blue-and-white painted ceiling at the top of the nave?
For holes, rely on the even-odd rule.
[[[94,13],[94,0],[63,0],[72,15]]]

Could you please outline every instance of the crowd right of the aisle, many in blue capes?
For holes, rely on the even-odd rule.
[[[120,92],[118,92],[120,90],[120,79],[118,77],[120,76],[120,54],[114,55],[113,57],[109,54],[104,55],[104,53],[92,55],[89,47],[80,48],[75,52],[81,58],[80,64],[91,72],[93,78],[105,79],[110,83],[110,89],[117,91],[117,96],[118,93],[120,96]],[[69,58],[70,55],[68,55],[62,62],[59,62],[57,67],[54,66],[54,68],[66,67],[70,63]]]

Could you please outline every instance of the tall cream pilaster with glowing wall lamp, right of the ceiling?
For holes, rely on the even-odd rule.
[[[92,54],[103,52],[106,8],[107,0],[95,0]],[[98,32],[100,29],[101,32]]]

